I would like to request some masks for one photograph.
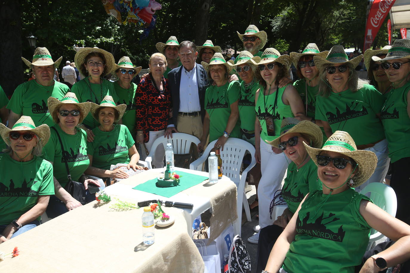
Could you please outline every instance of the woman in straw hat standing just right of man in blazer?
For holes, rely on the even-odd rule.
[[[209,142],[216,141],[214,147],[222,147],[229,137],[241,138],[239,129],[238,99],[240,85],[238,81],[229,82],[231,67],[225,62],[221,53],[215,53],[210,63],[201,63],[215,85],[209,86],[205,92],[205,118],[203,135],[198,144],[198,152],[205,148],[209,134]]]

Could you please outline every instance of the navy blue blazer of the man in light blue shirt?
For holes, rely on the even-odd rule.
[[[171,99],[172,99],[172,121],[175,127],[177,126],[177,117],[180,106],[180,83],[181,83],[181,73],[182,65],[180,67],[174,68],[168,72],[168,85],[171,90]],[[201,106],[201,117],[202,122],[205,117],[205,91],[209,86],[208,74],[199,63],[196,64],[196,81],[198,83],[198,95],[199,102]]]

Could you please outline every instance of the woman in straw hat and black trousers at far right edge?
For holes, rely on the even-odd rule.
[[[396,217],[410,223],[407,195],[410,166],[410,40],[394,41],[386,57],[378,61],[382,62],[393,86],[380,117],[389,142],[392,162],[390,185],[397,195]]]

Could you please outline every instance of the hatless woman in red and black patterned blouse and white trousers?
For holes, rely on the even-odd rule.
[[[168,79],[163,77],[166,70],[166,58],[161,53],[151,55],[149,68],[151,72],[142,78],[135,94],[137,115],[137,143],[145,143],[150,152],[154,141],[165,135],[168,120],[171,118],[171,92],[168,88]],[[164,166],[165,150],[162,145],[157,147],[152,159],[152,165],[161,168]],[[144,160],[144,152],[141,160]]]

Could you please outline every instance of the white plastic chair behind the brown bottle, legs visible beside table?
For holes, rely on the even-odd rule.
[[[200,171],[202,168],[203,162],[207,160],[212,148],[217,140],[212,141],[208,144],[203,155],[195,160],[189,165],[189,169]],[[242,160],[246,150],[249,151],[252,155],[252,162],[243,172],[242,175],[239,174],[241,170]],[[223,145],[223,150],[221,150],[221,159],[222,159],[222,173],[232,180],[237,186],[237,211],[238,211],[238,220],[236,225],[236,230],[241,234],[241,221],[242,221],[242,204],[245,209],[246,219],[251,221],[251,211],[249,210],[248,199],[246,199],[246,194],[244,191],[246,175],[253,166],[256,164],[255,157],[255,148],[249,142],[241,140],[239,138],[228,138],[225,145]]]

